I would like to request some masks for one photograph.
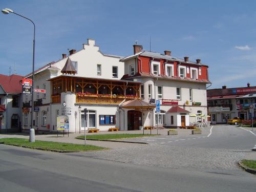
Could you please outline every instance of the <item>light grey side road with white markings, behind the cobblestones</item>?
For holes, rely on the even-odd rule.
[[[256,128],[254,128],[255,130]],[[251,150],[256,144],[256,132],[253,135],[236,125],[215,125],[207,136],[154,136],[126,139],[127,141],[146,142],[148,144],[195,146],[204,148],[223,148]]]

